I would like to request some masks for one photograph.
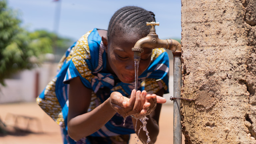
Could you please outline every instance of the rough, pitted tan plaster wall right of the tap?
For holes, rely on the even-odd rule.
[[[186,144],[256,144],[256,1],[181,0]]]

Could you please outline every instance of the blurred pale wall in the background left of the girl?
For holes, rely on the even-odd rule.
[[[21,71],[11,79],[5,79],[6,86],[0,85],[0,103],[35,101],[36,96],[54,78],[56,65],[44,63],[38,68]],[[38,81],[36,81],[37,73]]]

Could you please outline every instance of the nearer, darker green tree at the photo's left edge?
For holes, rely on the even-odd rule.
[[[28,32],[20,27],[21,20],[7,7],[5,0],[0,1],[0,83],[4,78],[20,69],[31,68],[29,58],[38,56],[39,51],[31,49]]]

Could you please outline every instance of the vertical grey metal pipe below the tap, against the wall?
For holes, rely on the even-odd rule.
[[[180,98],[181,94],[181,56],[173,55],[173,97]],[[173,144],[182,143],[180,100],[173,100]]]

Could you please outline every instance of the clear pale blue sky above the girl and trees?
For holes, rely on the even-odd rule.
[[[18,10],[22,26],[29,31],[46,29],[60,36],[78,39],[93,28],[107,29],[109,20],[123,6],[139,6],[155,13],[160,39],[181,38],[180,0],[7,0]],[[56,9],[60,5],[58,29]]]

